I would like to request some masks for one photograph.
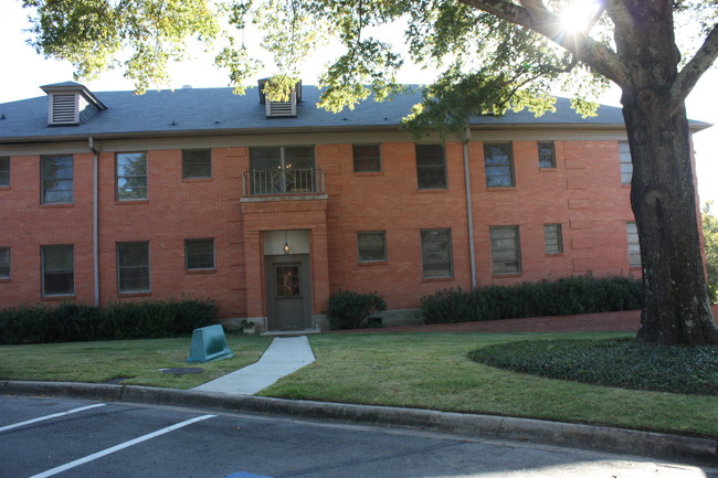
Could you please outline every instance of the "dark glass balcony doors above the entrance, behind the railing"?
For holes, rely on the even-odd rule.
[[[313,146],[250,148],[251,194],[316,192]]]

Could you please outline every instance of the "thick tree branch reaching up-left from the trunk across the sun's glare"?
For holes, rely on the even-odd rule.
[[[522,6],[507,0],[458,1],[546,36],[619,86],[629,82],[630,72],[615,52],[583,32],[567,33],[560,26],[559,17],[549,11],[541,0],[521,0]]]

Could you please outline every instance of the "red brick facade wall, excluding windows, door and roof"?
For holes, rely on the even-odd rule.
[[[469,144],[478,285],[587,273],[640,274],[629,269],[625,222],[632,213],[629,188],[621,184],[616,141],[557,141],[557,168],[550,170],[538,168],[535,141],[514,141],[513,147],[516,188],[487,189],[483,144]],[[413,142],[383,142],[382,171],[365,173],[353,172],[351,145],[317,145],[328,200],[285,202],[281,210],[276,204],[241,202],[247,151],[215,148],[212,179],[182,180],[179,149],[151,150],[149,196],[138,202],[115,201],[115,153],[99,155],[104,305],[146,297],[211,297],[221,317],[260,317],[265,314],[262,231],[283,229],[310,231],[315,314],[339,288],[377,290],[390,309],[404,309],[418,307],[426,294],[471,287],[461,142],[446,144],[445,190],[418,189]],[[74,244],[75,298],[93,302],[91,153],[75,155],[74,174],[74,204],[43,206],[39,157],[12,158],[11,188],[0,190],[0,246],[12,247],[12,278],[0,283],[0,305],[42,300],[40,246],[47,244]],[[320,206],[309,208],[313,202]],[[545,223],[562,224],[563,254],[545,254]],[[521,274],[492,274],[492,225],[520,227]],[[453,277],[424,279],[420,231],[444,227],[452,231]],[[384,263],[358,263],[360,231],[387,232]],[[183,241],[201,237],[215,240],[217,270],[188,273]],[[117,294],[116,243],[125,241],[149,242],[149,294]]]

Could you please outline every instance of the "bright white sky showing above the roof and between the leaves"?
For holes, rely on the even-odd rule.
[[[30,47],[25,41],[29,34],[23,30],[29,26],[28,11],[21,8],[19,0],[0,0],[0,103],[42,96],[41,85],[72,81],[72,66],[66,62],[45,60]],[[308,64],[304,84],[316,84],[323,67],[319,61]],[[211,59],[197,59],[170,67],[173,88],[184,85],[199,87],[228,86],[228,75],[212,65]],[[272,72],[261,72],[260,77]],[[400,72],[402,83],[429,83],[435,72],[422,71],[415,65],[408,65]],[[118,71],[103,74],[93,82],[82,82],[91,92],[133,89],[131,82],[124,78]],[[700,203],[712,200],[718,204],[718,68],[707,72],[698,82],[686,100],[690,119],[706,121],[714,126],[694,136],[696,151],[696,174]],[[621,106],[620,92],[614,88],[604,94],[600,103]],[[716,209],[714,208],[714,213]]]

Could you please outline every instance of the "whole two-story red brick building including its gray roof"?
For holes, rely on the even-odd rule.
[[[212,298],[303,329],[338,289],[400,323],[445,288],[641,273],[619,108],[559,99],[441,141],[399,127],[419,94],[331,114],[308,86],[42,88],[0,105],[0,307]]]

